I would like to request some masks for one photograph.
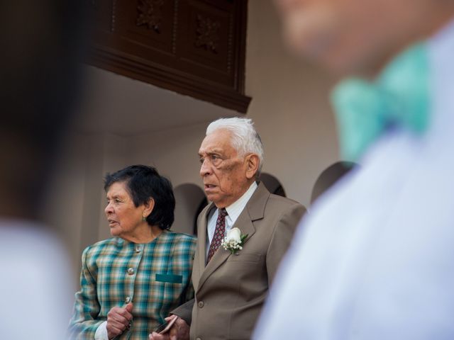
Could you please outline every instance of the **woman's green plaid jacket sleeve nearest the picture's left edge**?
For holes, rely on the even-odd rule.
[[[94,339],[99,325],[105,320],[97,319],[101,309],[96,294],[96,278],[87,265],[89,248],[82,253],[79,292],[75,294],[74,310],[70,320],[71,339]]]

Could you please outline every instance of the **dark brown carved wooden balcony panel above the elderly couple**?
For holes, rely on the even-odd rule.
[[[90,0],[89,63],[243,112],[247,0]]]

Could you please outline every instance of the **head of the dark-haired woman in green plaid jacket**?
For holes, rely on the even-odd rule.
[[[169,229],[174,221],[172,184],[151,166],[127,166],[106,174],[104,190],[104,211],[114,236],[124,236],[143,223]]]

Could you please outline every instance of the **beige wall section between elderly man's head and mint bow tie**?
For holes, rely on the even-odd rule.
[[[338,160],[328,105],[332,80],[287,52],[272,1],[249,0],[246,51],[248,117],[265,145],[263,171],[307,207],[317,176]]]

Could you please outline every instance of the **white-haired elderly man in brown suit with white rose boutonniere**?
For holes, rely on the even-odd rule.
[[[306,210],[255,182],[263,149],[250,119],[211,123],[199,156],[211,204],[198,220],[195,302],[173,311],[179,318],[170,337],[187,337],[184,320],[190,323],[192,314],[191,339],[250,339],[277,266]],[[229,244],[221,244],[224,235]],[[151,337],[165,338],[155,333]]]

